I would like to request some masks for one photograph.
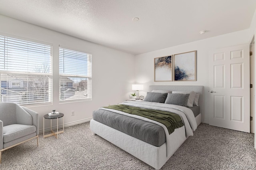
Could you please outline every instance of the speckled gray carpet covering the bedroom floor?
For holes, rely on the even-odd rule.
[[[255,169],[254,134],[199,125],[163,170]],[[92,135],[89,122],[67,127],[56,140],[36,139],[2,152],[1,170],[151,170],[146,163],[100,136]]]

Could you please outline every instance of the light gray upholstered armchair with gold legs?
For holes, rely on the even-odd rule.
[[[37,138],[38,113],[15,103],[0,103],[0,163],[2,151]]]

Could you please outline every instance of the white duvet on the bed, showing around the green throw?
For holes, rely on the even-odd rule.
[[[185,126],[185,134],[186,136],[184,136],[184,138],[188,138],[188,136],[193,136],[193,131],[196,130],[197,128],[197,124],[196,124],[196,119],[194,117],[194,114],[192,112],[192,110],[186,108],[186,107],[182,107],[182,106],[178,106],[178,105],[170,105],[170,104],[164,104],[164,103],[154,103],[154,102],[134,102],[134,101],[125,101],[123,103],[120,103],[122,105],[129,105],[129,106],[134,106],[134,107],[140,107],[140,108],[145,108],[145,109],[154,109],[154,110],[160,110],[160,111],[168,111],[168,112],[172,112],[172,113],[176,113],[178,115],[180,115],[180,117],[182,118],[182,121],[184,123]],[[167,157],[169,157],[172,154],[172,144],[171,144],[171,138],[172,136],[169,135],[169,132],[166,128],[166,126],[164,126],[162,123],[153,121],[151,119],[145,118],[145,117],[140,117],[138,115],[131,115],[129,113],[124,113],[122,111],[117,111],[117,110],[113,110],[113,109],[106,109],[101,107],[100,109],[103,110],[108,110],[114,113],[119,113],[121,115],[126,115],[129,117],[134,117],[136,119],[141,119],[143,121],[147,121],[147,122],[152,122],[155,123],[157,125],[160,125],[161,127],[164,128],[164,131],[166,133],[166,148],[167,148]],[[179,142],[179,141],[177,141]],[[182,141],[183,142],[183,141]]]

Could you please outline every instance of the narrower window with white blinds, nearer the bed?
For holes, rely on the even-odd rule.
[[[92,55],[59,48],[60,102],[92,100]]]

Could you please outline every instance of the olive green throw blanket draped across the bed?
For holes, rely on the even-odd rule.
[[[153,109],[142,109],[139,107],[133,107],[133,106],[127,106],[127,105],[111,105],[104,108],[114,109],[114,110],[122,111],[125,113],[130,113],[132,115],[146,117],[153,121],[162,123],[168,129],[169,134],[174,132],[176,128],[180,128],[184,126],[184,123],[181,117],[171,112],[158,111]]]

